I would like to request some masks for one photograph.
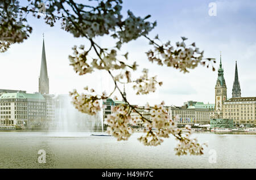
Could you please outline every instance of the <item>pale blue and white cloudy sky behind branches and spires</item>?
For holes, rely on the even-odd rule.
[[[217,3],[217,16],[209,16],[209,3]],[[228,97],[232,96],[235,63],[242,97],[256,96],[256,1],[167,1],[167,0],[124,0],[123,15],[130,9],[138,16],[151,15],[151,22],[157,21],[157,27],[150,37],[156,34],[174,45],[181,36],[188,37],[188,44],[196,42],[205,57],[216,58],[216,68],[222,52],[222,67],[228,87]],[[22,44],[12,45],[6,53],[0,54],[0,89],[20,89],[27,92],[38,91],[38,77],[42,55],[42,44],[46,46],[46,58],[49,75],[49,91],[52,94],[67,94],[72,89],[81,90],[88,85],[97,91],[112,91],[113,83],[104,72],[79,76],[69,66],[68,55],[73,45],[84,44],[81,38],[60,29],[59,25],[49,27],[43,20],[29,17],[33,27],[31,37]],[[108,47],[111,39],[98,38],[97,41]],[[214,103],[214,86],[217,71],[200,66],[183,74],[172,67],[160,67],[148,62],[146,54],[150,49],[148,41],[139,38],[122,47],[129,52],[129,61],[137,61],[139,71],[149,68],[151,76],[158,75],[163,81],[155,93],[137,96],[130,86],[126,87],[127,99],[132,104],[182,105],[188,100]],[[117,94],[118,97],[120,97]]]

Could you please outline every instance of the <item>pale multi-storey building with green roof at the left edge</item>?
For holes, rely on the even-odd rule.
[[[0,96],[1,126],[31,127],[46,122],[46,101],[40,93],[4,93]]]

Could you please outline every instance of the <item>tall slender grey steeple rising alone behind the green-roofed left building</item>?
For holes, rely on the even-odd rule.
[[[44,35],[43,35],[41,69],[40,69],[40,76],[39,76],[39,92],[42,95],[49,94],[49,78],[48,78],[47,64],[46,64],[46,50],[44,48]]]

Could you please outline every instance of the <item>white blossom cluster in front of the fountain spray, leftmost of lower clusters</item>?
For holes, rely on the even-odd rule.
[[[88,87],[84,88],[86,91],[89,91]],[[93,93],[94,89],[90,89],[90,92]],[[104,100],[106,97],[105,92],[102,93],[102,96],[99,95],[90,95],[79,93],[74,89],[72,92],[69,92],[69,95],[72,96],[72,103],[77,110],[82,113],[96,115],[101,108],[105,108],[105,105],[101,105],[101,100]]]

